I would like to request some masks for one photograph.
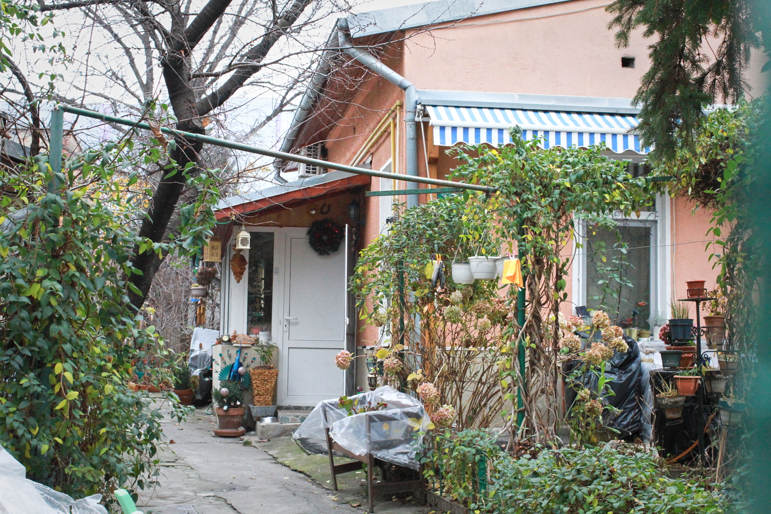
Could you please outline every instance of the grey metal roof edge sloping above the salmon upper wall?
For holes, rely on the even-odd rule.
[[[348,27],[352,38],[361,38],[566,1],[569,0],[434,0],[352,14],[348,16]]]

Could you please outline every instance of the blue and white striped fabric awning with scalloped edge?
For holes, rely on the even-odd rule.
[[[509,129],[518,125],[526,141],[544,138],[544,148],[585,147],[602,142],[617,153],[625,150],[648,153],[647,148],[641,147],[639,136],[628,133],[638,123],[637,118],[629,114],[456,106],[426,106],[426,109],[431,117],[434,144],[439,146],[460,142],[505,145],[511,143]]]

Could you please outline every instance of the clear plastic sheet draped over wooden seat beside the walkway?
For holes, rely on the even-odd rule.
[[[322,448],[325,452],[325,428],[329,428],[335,442],[354,455],[372,453],[385,462],[418,469],[415,455],[423,442],[420,432],[426,432],[431,422],[423,404],[389,385],[351,399],[356,410],[381,402],[386,408],[349,416],[337,399],[325,400],[316,405],[293,437],[312,452]]]

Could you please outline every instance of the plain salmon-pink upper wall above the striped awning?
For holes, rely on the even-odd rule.
[[[616,49],[611,15],[601,7],[555,15],[596,5],[561,2],[414,34],[406,42],[406,77],[418,89],[631,98],[648,69],[647,42],[635,35]],[[543,15],[551,16],[500,22]],[[635,57],[635,68],[621,68],[622,56]]]

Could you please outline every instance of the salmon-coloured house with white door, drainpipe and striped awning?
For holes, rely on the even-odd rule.
[[[604,142],[608,156],[645,173],[647,149],[628,130],[637,123],[631,98],[648,69],[648,42],[635,33],[618,49],[610,21],[604,5],[591,0],[446,0],[343,18],[330,36],[337,48],[317,70],[281,149],[446,179],[456,166],[447,149],[510,143],[508,129],[518,125],[526,139],[544,137],[544,146]],[[279,405],[315,405],[366,388],[361,359],[345,372],[333,361],[341,349],[361,354],[379,339],[377,328],[359,325],[345,291],[357,251],[387,230],[395,201],[433,196],[365,196],[416,185],[295,163],[279,163],[277,178],[287,183],[228,198],[217,211],[234,220],[231,226],[246,227],[252,241],[242,280],[224,277],[222,331],[270,331]],[[341,250],[319,256],[307,232],[325,218],[346,235]],[[670,302],[685,297],[685,281],[714,287],[705,250],[710,218],[685,198],[662,194],[650,210],[618,219],[633,286],[623,292],[618,316],[652,329],[655,314],[669,317]],[[581,242],[565,314],[593,307],[598,248],[615,240],[598,233]],[[227,270],[234,250],[225,246]]]

